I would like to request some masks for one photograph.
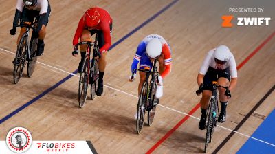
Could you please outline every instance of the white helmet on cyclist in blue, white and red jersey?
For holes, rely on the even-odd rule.
[[[150,58],[157,58],[162,53],[162,43],[159,39],[151,39],[146,46],[146,53]]]

